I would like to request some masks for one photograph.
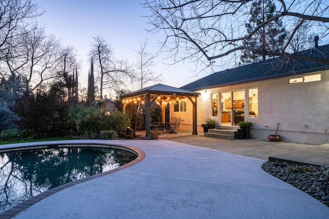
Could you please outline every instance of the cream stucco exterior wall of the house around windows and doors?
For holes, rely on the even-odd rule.
[[[209,117],[216,120],[217,126],[220,126],[221,113],[218,111],[218,116],[211,117],[212,93],[245,90],[247,99],[248,89],[258,88],[258,117],[248,117],[246,113],[245,118],[253,124],[252,138],[268,140],[268,135],[275,134],[279,123],[278,134],[284,142],[316,145],[329,143],[329,75],[323,71],[321,81],[288,84],[288,78],[304,75],[217,87],[207,89],[207,93],[204,90],[196,91],[202,94],[197,98],[197,131],[203,132],[200,125]],[[173,113],[172,106],[170,109],[171,116],[182,115],[182,112]],[[187,112],[184,113],[186,115],[182,120],[185,122],[181,122],[179,129],[190,131],[192,130],[191,103],[187,104]]]

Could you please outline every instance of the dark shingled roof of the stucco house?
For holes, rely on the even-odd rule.
[[[299,53],[307,55],[312,54],[313,57],[329,58],[329,45],[315,47]],[[266,79],[298,75],[326,69],[327,64],[324,63],[293,58],[290,58],[288,61],[285,57],[276,57],[262,62],[215,72],[206,77],[200,78],[195,82],[182,86],[180,89],[196,91],[205,88],[264,81]]]

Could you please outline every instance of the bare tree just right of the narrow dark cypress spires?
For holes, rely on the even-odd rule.
[[[95,60],[95,72],[99,72],[100,99],[102,100],[104,89],[116,91],[129,83],[127,80],[133,77],[131,73],[132,67],[126,59],[117,59],[114,56],[112,47],[106,43],[103,37],[95,36],[93,38],[94,41],[91,45],[89,56]]]

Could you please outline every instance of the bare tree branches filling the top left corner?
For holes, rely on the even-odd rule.
[[[0,1],[0,59],[12,46],[12,38],[21,34],[19,30],[29,26],[33,18],[43,13],[32,0]]]

